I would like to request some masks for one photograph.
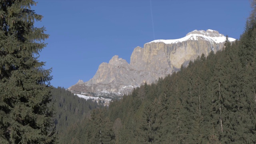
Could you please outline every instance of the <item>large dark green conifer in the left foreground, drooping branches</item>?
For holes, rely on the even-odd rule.
[[[0,0],[0,142],[56,142],[50,107],[51,70],[39,62],[48,38],[34,27],[42,16],[31,10],[32,0]]]

